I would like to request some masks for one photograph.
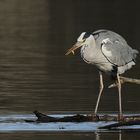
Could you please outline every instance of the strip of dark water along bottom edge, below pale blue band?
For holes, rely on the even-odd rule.
[[[29,140],[45,140],[51,139],[51,140],[139,140],[140,135],[139,132],[133,133],[133,132],[128,132],[128,133],[100,133],[97,134],[94,133],[36,133],[36,132],[22,132],[22,133],[1,133],[0,135],[1,139],[6,139],[6,140],[14,140],[14,139],[29,139]]]

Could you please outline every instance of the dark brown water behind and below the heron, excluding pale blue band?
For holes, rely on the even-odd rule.
[[[65,56],[82,31],[101,28],[120,33],[139,49],[137,1],[122,0],[1,0],[0,1],[0,112],[92,112],[98,95],[98,72],[80,55]],[[126,73],[140,78],[140,58]],[[105,84],[111,81],[105,76]],[[123,87],[124,112],[136,113],[140,86]],[[118,111],[116,89],[105,88],[100,112]],[[1,134],[18,139],[133,139],[128,133]],[[133,135],[133,133],[132,133]],[[139,139],[140,135],[135,134]],[[21,138],[20,138],[21,139]]]

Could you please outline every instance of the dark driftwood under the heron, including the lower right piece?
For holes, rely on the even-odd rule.
[[[98,129],[108,129],[108,130],[121,130],[121,126],[132,126],[132,125],[140,125],[140,115],[126,115],[124,119],[120,122],[117,121],[117,115],[100,115],[100,116],[92,116],[92,115],[73,115],[73,116],[65,116],[65,117],[52,117],[49,115],[45,115],[38,111],[33,112],[37,119],[36,120],[25,120],[27,123],[50,123],[50,122],[99,122],[99,121],[116,121],[112,124],[105,125],[99,127]]]

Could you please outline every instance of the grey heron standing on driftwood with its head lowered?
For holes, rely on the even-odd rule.
[[[132,49],[121,35],[104,29],[92,33],[81,33],[77,42],[67,51],[66,55],[74,54],[74,51],[80,47],[83,60],[88,64],[95,65],[99,70],[100,90],[94,115],[97,116],[98,105],[104,88],[102,73],[105,72],[117,82],[119,93],[118,120],[122,120],[120,75],[135,65],[138,51]]]

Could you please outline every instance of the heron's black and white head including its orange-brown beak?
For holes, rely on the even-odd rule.
[[[70,48],[65,55],[69,55],[70,53],[74,54],[74,51],[78,48],[81,48],[82,46],[89,46],[92,43],[92,45],[95,45],[95,39],[92,34],[83,32],[78,37],[77,42]]]

